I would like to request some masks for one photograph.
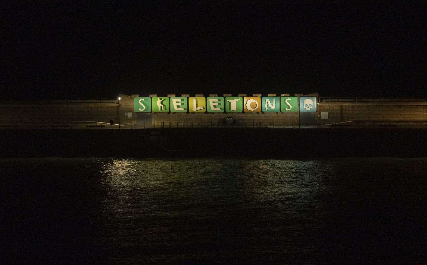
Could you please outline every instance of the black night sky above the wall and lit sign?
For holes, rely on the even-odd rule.
[[[422,1],[54,2],[1,4],[0,98],[427,96]]]

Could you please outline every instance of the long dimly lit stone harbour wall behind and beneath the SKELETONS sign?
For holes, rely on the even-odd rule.
[[[298,94],[299,95],[299,94]],[[137,96],[137,95],[134,95]],[[253,124],[297,125],[332,124],[345,121],[369,122],[414,122],[427,124],[427,98],[412,99],[365,99],[359,102],[328,101],[319,99],[317,112],[266,112],[266,113],[142,113],[134,112],[134,98],[121,95],[116,100],[77,101],[0,101],[0,128],[6,122],[77,122],[98,121],[108,123],[111,119],[127,127],[187,126],[193,124],[222,125],[225,118],[234,119],[234,124],[252,127]],[[130,126],[132,124],[132,126]],[[105,127],[108,128],[108,127]]]

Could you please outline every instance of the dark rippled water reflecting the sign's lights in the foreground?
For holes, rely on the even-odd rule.
[[[3,262],[426,258],[427,158],[33,158],[0,168]]]

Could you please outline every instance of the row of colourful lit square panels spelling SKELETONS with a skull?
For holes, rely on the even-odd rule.
[[[134,112],[317,112],[316,97],[134,98]]]

